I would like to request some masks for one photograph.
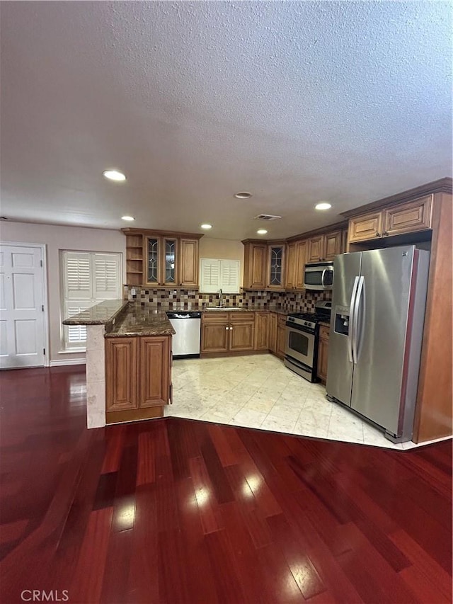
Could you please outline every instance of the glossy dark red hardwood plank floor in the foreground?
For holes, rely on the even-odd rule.
[[[2,603],[452,601],[451,441],[88,431],[83,367],[1,372],[0,395]]]

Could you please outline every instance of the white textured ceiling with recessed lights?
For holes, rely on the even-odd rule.
[[[241,239],[264,212],[286,237],[449,176],[451,24],[441,1],[2,2],[1,215]]]

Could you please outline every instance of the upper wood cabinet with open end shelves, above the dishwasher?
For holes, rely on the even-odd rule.
[[[202,235],[122,229],[126,235],[128,285],[198,287],[198,241]]]

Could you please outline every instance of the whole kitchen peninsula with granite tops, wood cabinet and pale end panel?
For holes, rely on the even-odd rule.
[[[164,415],[175,331],[163,310],[107,300],[63,324],[86,326],[88,428]]]

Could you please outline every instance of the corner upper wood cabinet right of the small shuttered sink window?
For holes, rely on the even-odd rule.
[[[244,245],[243,287],[247,290],[285,289],[285,241],[254,241]]]

